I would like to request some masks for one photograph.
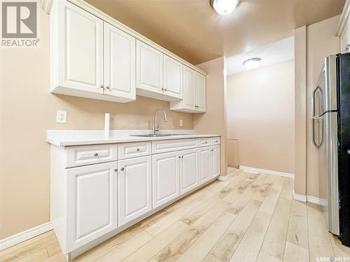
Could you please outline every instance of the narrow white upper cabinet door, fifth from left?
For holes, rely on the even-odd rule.
[[[196,72],[187,66],[183,66],[183,108],[196,110],[195,97]]]

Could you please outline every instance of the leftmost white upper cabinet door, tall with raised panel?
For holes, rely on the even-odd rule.
[[[103,21],[68,1],[59,7],[59,85],[103,94]]]

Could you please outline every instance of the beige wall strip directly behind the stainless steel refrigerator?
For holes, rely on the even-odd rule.
[[[318,82],[324,58],[340,52],[340,39],[335,36],[339,15],[307,27],[307,195],[319,196],[318,151],[311,142],[311,94]]]

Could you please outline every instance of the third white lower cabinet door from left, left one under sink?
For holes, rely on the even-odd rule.
[[[153,155],[153,208],[180,195],[179,152]]]

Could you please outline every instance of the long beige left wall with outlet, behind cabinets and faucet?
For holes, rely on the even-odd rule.
[[[41,48],[1,49],[1,239],[50,220],[47,129],[103,129],[104,112],[111,113],[111,129],[150,129],[157,107],[169,116],[162,129],[193,129],[192,114],[169,111],[164,101],[138,96],[122,104],[50,94],[48,37],[49,17],[41,11]],[[55,123],[56,110],[67,111],[67,124]]]

